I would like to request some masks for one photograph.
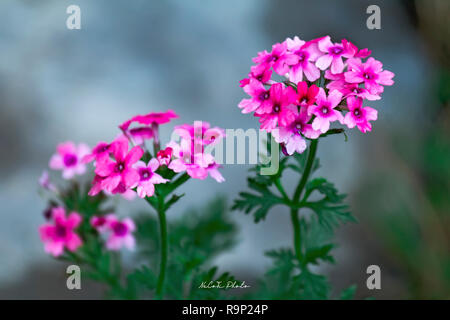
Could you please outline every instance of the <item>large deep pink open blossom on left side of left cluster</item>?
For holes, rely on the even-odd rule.
[[[128,152],[128,143],[125,141],[118,141],[113,149],[114,161],[108,158],[97,162],[95,173],[102,178],[100,181],[102,189],[112,193],[123,193],[135,187],[139,181],[139,174],[133,168],[133,164],[141,159],[144,151],[136,146]]]

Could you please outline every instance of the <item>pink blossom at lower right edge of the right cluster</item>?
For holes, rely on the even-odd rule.
[[[344,117],[344,124],[350,129],[357,126],[362,133],[366,133],[372,130],[372,124],[369,121],[377,120],[378,112],[371,107],[363,107],[362,105],[363,99],[361,98],[347,98],[349,111]]]

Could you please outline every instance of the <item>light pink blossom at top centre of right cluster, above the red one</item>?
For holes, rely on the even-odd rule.
[[[317,43],[305,42],[299,37],[294,39],[286,39],[287,48],[290,52],[297,56],[297,61],[290,65],[289,81],[297,83],[303,80],[303,73],[308,81],[316,81],[320,78],[320,71],[314,62],[322,55],[319,51]]]

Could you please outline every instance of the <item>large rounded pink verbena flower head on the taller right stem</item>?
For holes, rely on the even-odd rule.
[[[363,100],[381,99],[384,86],[394,84],[394,74],[370,54],[345,39],[333,43],[329,36],[307,42],[288,38],[253,59],[256,65],[240,81],[250,98],[239,108],[253,112],[261,129],[271,132],[289,155],[302,153],[305,138],[319,138],[336,121],[371,131],[377,110],[364,106]],[[281,76],[279,81],[272,79],[274,72]]]

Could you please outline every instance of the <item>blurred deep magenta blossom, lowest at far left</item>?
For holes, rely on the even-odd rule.
[[[56,207],[51,211],[51,219],[53,223],[46,223],[39,227],[45,252],[58,257],[63,254],[64,248],[72,252],[76,251],[82,245],[81,238],[74,232],[81,223],[81,216],[72,212],[66,217],[64,208]]]

